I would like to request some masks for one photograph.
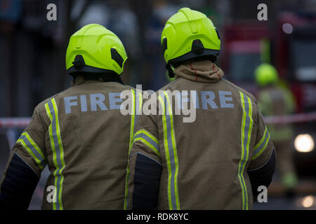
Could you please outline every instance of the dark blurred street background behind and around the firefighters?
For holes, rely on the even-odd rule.
[[[57,6],[57,20],[46,19],[49,3]],[[266,21],[257,18],[259,3],[268,6]],[[88,23],[114,31],[129,56],[124,83],[158,90],[171,81],[160,45],[162,29],[182,7],[202,11],[217,27],[222,43],[217,64],[224,78],[258,97],[262,88],[254,71],[267,62],[279,73],[277,86],[294,99],[291,112],[266,116],[271,129],[286,125],[293,131],[280,153],[292,176],[284,179],[278,167],[268,202],[257,202],[254,209],[316,209],[315,0],[0,0],[0,174],[34,107],[70,87],[65,52],[75,31]],[[47,176],[46,168],[29,209],[41,208]]]

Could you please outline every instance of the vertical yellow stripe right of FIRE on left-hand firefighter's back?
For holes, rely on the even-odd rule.
[[[136,116],[136,95],[135,90],[131,89],[131,127],[129,132],[129,155],[131,153],[131,148],[133,146],[133,138],[134,138],[134,123]],[[141,103],[141,102],[140,102]],[[126,167],[126,177],[125,177],[125,197],[124,197],[124,210],[129,209],[129,156],[127,158],[127,167]]]

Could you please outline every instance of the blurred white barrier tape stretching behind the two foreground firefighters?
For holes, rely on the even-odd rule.
[[[0,127],[25,128],[29,125],[31,118],[0,118]],[[303,123],[316,120],[316,112],[298,113],[289,116],[264,117],[266,124]]]

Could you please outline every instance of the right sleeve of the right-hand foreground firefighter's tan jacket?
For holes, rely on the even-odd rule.
[[[251,162],[247,169],[254,197],[258,195],[259,186],[268,188],[276,165],[275,147],[257,106],[256,116],[256,141],[251,151]]]

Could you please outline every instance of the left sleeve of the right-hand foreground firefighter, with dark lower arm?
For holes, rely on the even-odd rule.
[[[129,158],[129,209],[157,208],[162,173],[158,139],[157,116],[140,116]]]

